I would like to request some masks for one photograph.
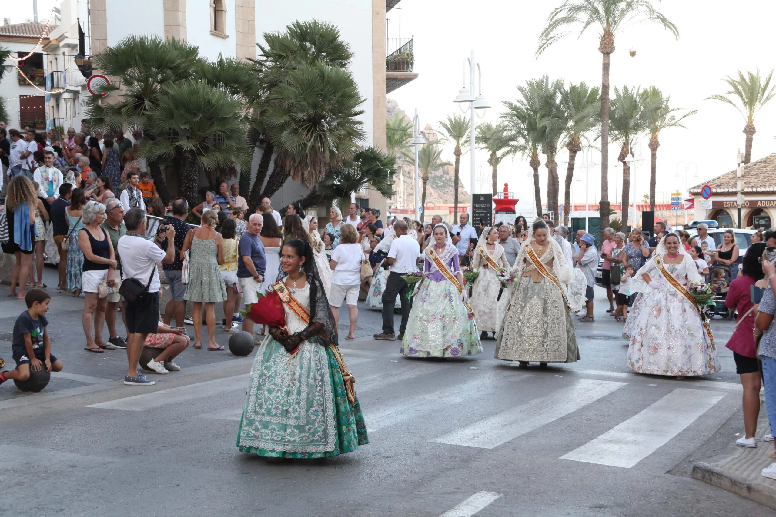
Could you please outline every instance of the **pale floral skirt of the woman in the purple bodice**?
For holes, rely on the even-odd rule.
[[[423,281],[399,351],[411,357],[476,356],[483,351],[477,324],[449,281]]]

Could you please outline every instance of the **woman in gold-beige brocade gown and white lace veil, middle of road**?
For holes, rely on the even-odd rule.
[[[516,285],[496,340],[496,359],[518,360],[523,368],[530,361],[546,367],[579,360],[571,312],[584,304],[587,282],[566,261],[546,222],[536,221],[528,229],[514,261],[514,276]]]

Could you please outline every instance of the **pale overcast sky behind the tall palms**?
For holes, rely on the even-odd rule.
[[[161,1],[161,0],[160,0]],[[39,0],[40,18],[47,18],[54,0]],[[495,122],[503,110],[505,100],[518,95],[515,86],[527,79],[549,74],[550,78],[589,84],[601,83],[601,53],[598,52],[598,33],[589,30],[581,39],[569,36],[556,43],[542,57],[535,59],[534,51],[539,32],[545,25],[550,9],[561,0],[514,2],[508,0],[402,0],[401,34],[399,10],[388,12],[388,36],[414,36],[415,71],[417,80],[393,91],[402,109],[412,114],[417,108],[421,123],[444,119],[459,111],[452,103],[461,84],[462,61],[470,50],[476,52],[483,69],[483,93],[493,109],[484,121]],[[680,40],[653,24],[629,27],[616,36],[617,50],[611,56],[611,85],[646,87],[656,85],[670,95],[671,105],[697,109],[698,114],[687,121],[688,129],[669,129],[660,135],[658,150],[657,190],[684,191],[684,162],[690,166],[689,184],[700,183],[735,167],[736,150],[743,151],[744,120],[732,106],[706,97],[727,90],[721,81],[737,70],[759,67],[767,74],[774,67],[773,20],[776,2],[771,0],[706,0],[706,2],[653,2],[679,27]],[[32,0],[0,2],[0,17],[11,17],[12,22],[32,18]],[[300,13],[301,15],[301,13]],[[636,50],[636,57],[629,50]],[[614,92],[612,91],[612,95]],[[776,152],[776,100],[760,112],[755,125],[753,160]],[[646,158],[636,176],[636,198],[649,188],[649,153],[643,139],[641,153]],[[636,146],[636,153],[639,153]],[[622,188],[621,170],[615,161],[619,149],[611,147],[609,160],[610,198],[618,199]],[[445,159],[452,160],[452,150]],[[594,152],[600,164],[600,153]],[[490,167],[485,153],[477,153],[476,164],[483,166],[482,174],[490,178]],[[564,160],[563,155],[559,161]],[[580,160],[577,160],[577,166]],[[681,178],[674,175],[677,167]],[[698,178],[694,178],[695,171]],[[469,156],[462,157],[461,178],[469,189]],[[563,184],[565,167],[559,166]],[[542,167],[544,170],[544,167]],[[499,166],[499,181],[511,185],[522,184],[528,178],[528,164],[520,158],[504,160]],[[590,199],[598,200],[600,167],[589,170]],[[584,177],[584,169],[577,167],[577,178]],[[542,177],[542,196],[546,174]],[[575,202],[584,202],[584,182],[574,184]]]

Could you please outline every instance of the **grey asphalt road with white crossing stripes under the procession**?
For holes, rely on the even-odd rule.
[[[577,323],[582,359],[546,371],[494,360],[492,339],[479,357],[402,357],[371,339],[379,312],[363,309],[341,350],[371,443],[265,460],[235,446],[255,354],[186,350],[181,372],[124,386],[126,354],[82,351],[82,300],[54,295],[63,374],[40,394],[0,387],[0,515],[774,515],[688,477],[743,428],[733,324],[713,324],[720,374],[631,374],[597,303],[597,321]],[[22,310],[0,302],[0,339]]]

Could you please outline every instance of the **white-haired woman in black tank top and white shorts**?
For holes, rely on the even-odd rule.
[[[78,231],[78,246],[84,253],[84,265],[81,268],[81,287],[84,291],[84,314],[81,323],[86,335],[88,352],[102,353],[103,349],[114,350],[114,346],[102,341],[102,323],[108,298],[99,298],[99,286],[113,287],[116,283],[116,252],[113,243],[104,228],[100,228],[106,219],[105,205],[90,201],[83,209],[84,227]]]

